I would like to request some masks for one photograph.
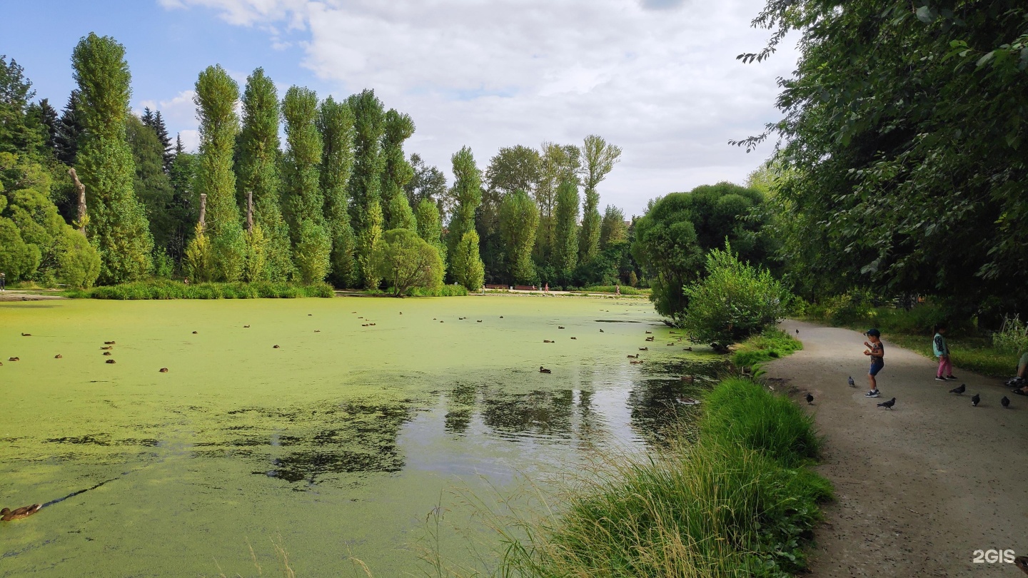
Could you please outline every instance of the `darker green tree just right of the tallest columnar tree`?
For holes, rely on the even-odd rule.
[[[174,196],[172,181],[163,168],[163,145],[151,127],[130,114],[125,134],[132,148],[136,175],[133,190],[146,211],[153,244],[158,255],[164,255],[172,243],[176,223],[169,210]]]

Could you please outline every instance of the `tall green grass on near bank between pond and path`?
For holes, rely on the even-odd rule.
[[[616,465],[583,483],[566,510],[511,538],[505,575],[781,577],[831,484],[809,469],[819,439],[790,399],[747,380],[703,400],[699,439]]]

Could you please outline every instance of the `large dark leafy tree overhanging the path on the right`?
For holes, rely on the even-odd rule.
[[[1028,34],[1023,3],[769,1],[762,61],[800,59],[769,134],[790,276],[944,297],[954,315],[1025,311]],[[810,295],[813,296],[813,295]]]

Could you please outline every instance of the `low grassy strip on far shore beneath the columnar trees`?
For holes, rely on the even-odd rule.
[[[295,285],[292,283],[196,283],[186,285],[178,281],[154,280],[94,287],[84,291],[64,293],[72,298],[93,299],[256,299],[332,297],[332,287],[326,283]]]

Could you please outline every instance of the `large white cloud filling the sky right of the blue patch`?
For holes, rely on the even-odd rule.
[[[409,113],[407,148],[444,169],[466,144],[484,168],[501,146],[601,135],[624,149],[602,203],[629,214],[672,190],[743,181],[770,147],[746,155],[727,141],[777,117],[775,80],[796,59],[735,60],[766,40],[749,28],[762,0],[160,2],[214,9],[274,46],[287,42],[279,27],[303,35],[302,66],[337,97],[370,87]]]

